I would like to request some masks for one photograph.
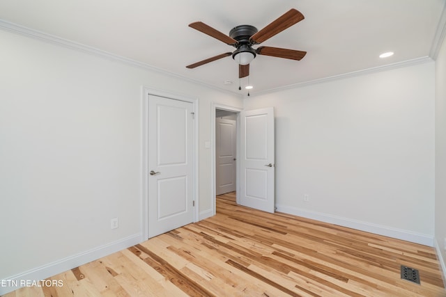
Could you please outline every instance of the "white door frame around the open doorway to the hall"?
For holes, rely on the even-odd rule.
[[[212,211],[213,211],[213,216],[215,216],[215,214],[217,213],[217,206],[216,206],[216,200],[215,200],[215,195],[217,193],[217,183],[215,181],[216,177],[217,177],[217,173],[216,173],[216,166],[215,166],[215,161],[216,161],[216,157],[215,157],[215,112],[217,111],[217,109],[221,109],[224,111],[231,111],[233,113],[237,114],[237,127],[236,127],[236,131],[237,131],[237,135],[236,135],[236,154],[237,154],[237,160],[236,160],[236,202],[239,202],[239,197],[238,197],[238,193],[240,191],[240,158],[238,156],[240,156],[240,112],[243,111],[243,108],[240,107],[236,107],[236,106],[229,106],[229,105],[225,105],[225,104],[219,104],[219,103],[215,103],[212,102],[212,104],[210,104],[210,150],[211,150],[211,156],[212,156],[212,160],[210,161],[210,184],[211,184],[211,193],[212,193]]]

